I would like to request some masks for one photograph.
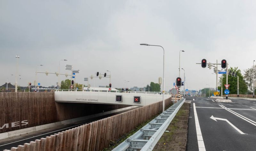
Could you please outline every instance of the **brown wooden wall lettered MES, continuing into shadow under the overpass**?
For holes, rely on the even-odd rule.
[[[54,92],[0,92],[0,133],[123,107],[128,106],[56,103]]]

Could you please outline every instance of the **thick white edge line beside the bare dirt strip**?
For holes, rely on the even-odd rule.
[[[202,132],[200,129],[197,113],[196,113],[196,104],[193,103],[194,106],[194,116],[195,116],[195,124],[196,124],[196,136],[197,136],[197,142],[198,142],[198,149],[199,151],[206,151],[204,146],[204,140],[202,136]]]

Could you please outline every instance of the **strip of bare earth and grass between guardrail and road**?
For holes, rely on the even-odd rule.
[[[185,102],[154,147],[154,151],[186,150],[190,103]]]

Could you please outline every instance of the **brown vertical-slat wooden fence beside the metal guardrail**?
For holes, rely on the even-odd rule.
[[[171,98],[165,105],[171,104]],[[46,138],[12,147],[11,151],[98,151],[108,147],[140,123],[162,112],[163,102],[136,108],[89,124],[59,132]],[[5,150],[9,151],[9,150]]]

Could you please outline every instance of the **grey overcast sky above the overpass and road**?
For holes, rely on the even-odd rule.
[[[226,59],[242,71],[256,60],[256,1],[0,1],[0,85],[27,86],[38,71],[70,73],[76,81],[111,71],[112,87],[142,87],[163,76],[161,45],[165,50],[165,89],[173,87],[180,67],[190,89],[216,85],[213,70],[196,62]],[[108,72],[107,72],[108,73]],[[180,71],[183,79],[183,70]],[[66,77],[61,76],[61,80]],[[124,80],[130,81],[124,83]],[[38,74],[42,86],[56,85],[56,75]],[[108,85],[109,79],[89,80],[91,86]]]

